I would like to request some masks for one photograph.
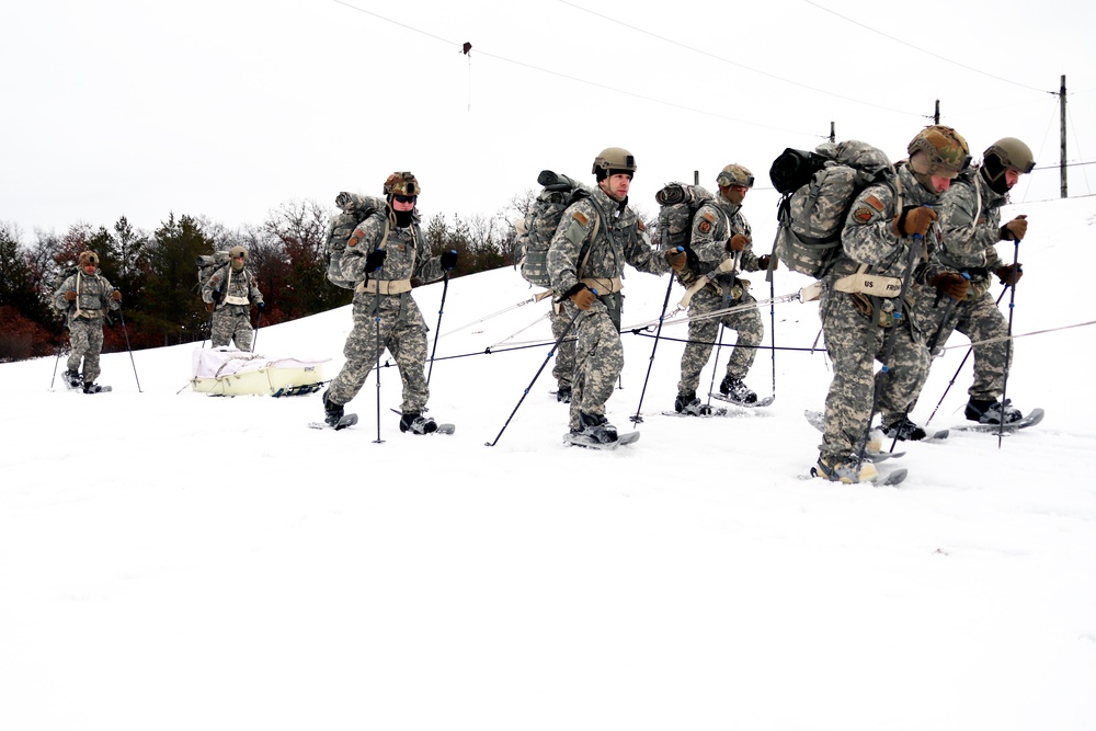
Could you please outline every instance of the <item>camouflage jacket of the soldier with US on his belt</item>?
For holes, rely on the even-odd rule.
[[[825,277],[827,283],[852,274],[860,264],[868,265],[869,274],[905,277],[910,260],[909,247],[916,243],[912,237],[895,236],[894,216],[901,213],[900,205],[927,205],[938,209],[940,195],[918,183],[906,162],[899,162],[895,168],[902,190],[901,204],[891,183],[875,183],[860,191],[845,219],[845,227],[841,232],[841,254]],[[939,244],[938,224],[938,220],[933,221],[924,237],[924,247],[918,254],[920,263],[927,261],[928,253]]]

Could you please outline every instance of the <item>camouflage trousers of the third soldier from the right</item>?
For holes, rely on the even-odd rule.
[[[693,296],[688,313],[696,317],[697,315],[715,312],[730,305],[745,305],[755,301],[757,300],[751,297],[750,293],[744,293],[738,301],[724,305],[721,295],[705,287]],[[761,345],[765,338],[765,325],[762,323],[761,313],[756,308],[728,312],[718,319],[690,320],[688,323],[689,342],[682,354],[682,378],[677,382],[678,393],[696,392],[696,388],[700,384],[700,372],[711,355],[712,343],[719,335],[720,324],[739,333],[734,350],[731,351],[731,358],[727,362],[727,375],[731,378],[745,378],[746,374],[750,373],[750,366],[753,365],[754,358],[757,356],[756,346]]]

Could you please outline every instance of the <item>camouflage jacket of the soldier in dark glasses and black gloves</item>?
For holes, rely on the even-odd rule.
[[[385,264],[379,272],[365,271],[365,258],[385,239]],[[396,226],[387,212],[377,210],[357,225],[342,258],[342,276],[351,282],[364,282],[366,275],[378,281],[399,281],[412,277],[422,282],[442,278],[441,256],[430,255],[430,244],[418,220],[407,228]]]

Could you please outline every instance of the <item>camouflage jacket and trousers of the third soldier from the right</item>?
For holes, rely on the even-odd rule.
[[[693,233],[689,248],[696,254],[694,264],[676,273],[677,281],[686,289],[697,278],[715,267],[720,262],[732,256],[727,252],[727,241],[735,233],[751,238],[750,222],[741,212],[742,206],[730,203],[717,193],[715,201],[704,204],[693,219]],[[690,258],[692,259],[692,258]],[[752,242],[746,243],[739,260],[740,271],[758,271],[757,256],[753,252]],[[715,282],[697,290],[689,300],[689,317],[707,315],[737,305],[756,301],[749,292],[749,281],[739,279],[733,274],[719,274]],[[682,354],[682,376],[677,384],[678,395],[695,395],[700,382],[700,370],[708,363],[712,343],[722,323],[739,333],[730,361],[727,363],[728,378],[745,378],[757,355],[757,345],[765,336],[765,327],[756,308],[728,312],[723,317],[690,320],[688,323],[688,344]]]

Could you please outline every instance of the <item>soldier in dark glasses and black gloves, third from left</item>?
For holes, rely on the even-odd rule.
[[[423,375],[429,328],[411,296],[411,278],[441,278],[456,266],[457,252],[431,256],[415,210],[421,191],[419,181],[409,172],[389,175],[384,187],[387,207],[358,224],[346,242],[342,278],[357,282],[357,286],[354,328],[343,349],[346,363],[323,393],[324,421],[332,426],[342,419],[343,404],[357,396],[377,363],[379,328],[380,347],[392,354],[403,381],[400,431],[437,431],[434,420],[422,415],[430,399]]]

